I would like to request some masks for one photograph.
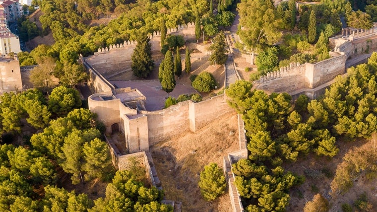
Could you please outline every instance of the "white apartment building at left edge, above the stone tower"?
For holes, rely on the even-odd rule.
[[[21,52],[20,40],[9,29],[0,27],[0,55],[4,57],[10,52]]]

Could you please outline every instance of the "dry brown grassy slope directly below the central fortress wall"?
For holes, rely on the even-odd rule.
[[[239,148],[236,113],[226,114],[196,133],[162,141],[150,147],[166,199],[181,201],[184,212],[230,212],[226,192],[219,199],[206,202],[198,181],[204,165],[215,162]]]

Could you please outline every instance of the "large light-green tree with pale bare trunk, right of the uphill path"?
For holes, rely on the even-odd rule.
[[[237,32],[242,42],[251,51],[251,65],[254,53],[277,42],[282,33],[278,30],[280,18],[271,0],[245,0],[238,4],[240,25]]]

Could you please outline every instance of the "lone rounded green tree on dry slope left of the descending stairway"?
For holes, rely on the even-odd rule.
[[[216,163],[204,166],[200,172],[200,192],[206,201],[212,201],[224,194],[226,188],[225,176]]]

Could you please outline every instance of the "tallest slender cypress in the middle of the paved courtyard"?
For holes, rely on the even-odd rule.
[[[163,90],[165,90],[167,93],[170,93],[176,86],[176,80],[174,78],[173,55],[170,50],[165,54],[163,70],[164,71],[162,74],[161,86]]]

